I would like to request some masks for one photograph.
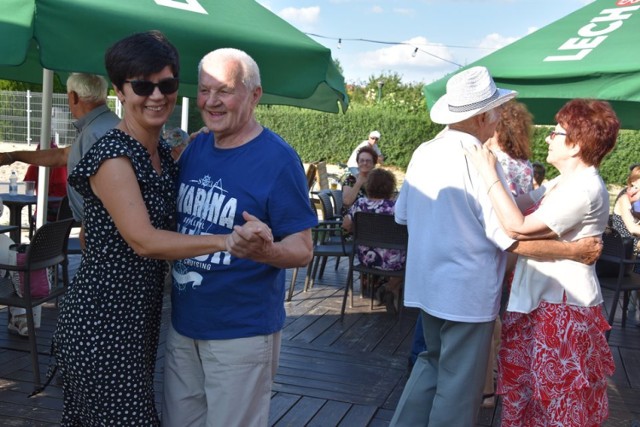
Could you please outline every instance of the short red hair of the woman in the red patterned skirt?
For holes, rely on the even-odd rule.
[[[567,132],[566,144],[578,144],[578,156],[589,166],[600,166],[616,145],[620,121],[606,101],[573,99],[558,111],[556,121]]]

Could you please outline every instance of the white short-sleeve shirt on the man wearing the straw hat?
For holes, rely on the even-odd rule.
[[[502,230],[477,170],[464,154],[475,137],[446,130],[414,152],[396,202],[409,247],[405,305],[460,322],[499,310],[506,255]],[[500,169],[501,172],[501,169]],[[505,184],[502,176],[503,185]]]

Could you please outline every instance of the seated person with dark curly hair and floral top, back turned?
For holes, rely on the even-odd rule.
[[[374,169],[369,173],[366,183],[365,197],[361,197],[351,206],[349,213],[344,216],[342,227],[346,231],[353,228],[353,218],[356,212],[373,212],[379,214],[393,215],[395,200],[393,193],[396,190],[396,179],[394,175],[385,169]],[[379,268],[381,270],[400,270],[407,260],[406,251],[399,249],[379,249],[366,246],[358,247],[358,260],[367,267]],[[365,282],[360,279],[363,288]],[[391,277],[389,281],[378,288],[378,298],[384,302],[387,311],[396,313],[398,310],[400,286],[402,279]],[[373,289],[372,289],[373,291]]]

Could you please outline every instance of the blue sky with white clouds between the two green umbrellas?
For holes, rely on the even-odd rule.
[[[397,73],[405,83],[430,83],[591,1],[258,0],[258,3],[331,49],[347,83],[366,83],[372,76],[388,73]]]

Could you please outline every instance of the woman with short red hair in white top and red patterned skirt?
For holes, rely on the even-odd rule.
[[[512,237],[574,241],[602,234],[609,194],[598,172],[616,143],[619,121],[608,103],[576,99],[556,114],[547,162],[560,175],[514,203],[484,148],[468,153]],[[523,211],[537,205],[530,215]],[[519,207],[519,208],[518,208]],[[598,426],[609,413],[607,376],[615,365],[604,332],[594,265],[520,257],[503,319],[498,394],[503,426]]]

